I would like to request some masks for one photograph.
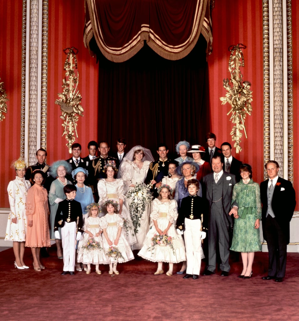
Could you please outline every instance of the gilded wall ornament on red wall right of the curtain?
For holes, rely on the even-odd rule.
[[[228,102],[232,107],[226,115],[232,113],[229,120],[235,125],[233,126],[230,135],[232,136],[232,140],[235,141],[234,147],[237,153],[242,151],[240,146],[241,138],[243,136],[242,131],[244,131],[245,137],[247,138],[244,123],[246,113],[251,115],[252,112],[251,83],[249,81],[243,81],[243,74],[240,71],[240,67],[244,67],[244,57],[241,48],[245,49],[246,46],[237,44],[236,46],[230,46],[228,48],[231,52],[228,62],[231,85],[227,78],[223,79],[223,87],[227,92],[225,97],[220,97],[222,105],[225,105]]]

